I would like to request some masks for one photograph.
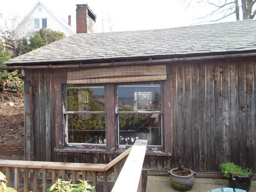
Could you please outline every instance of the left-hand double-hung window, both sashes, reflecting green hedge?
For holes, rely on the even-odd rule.
[[[106,144],[104,86],[66,86],[64,106],[67,144]]]

